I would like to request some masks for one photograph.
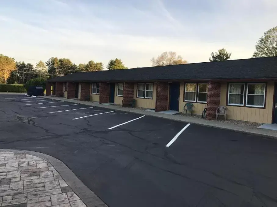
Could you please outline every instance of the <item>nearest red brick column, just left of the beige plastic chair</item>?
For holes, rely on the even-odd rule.
[[[220,102],[220,83],[208,82],[206,119],[216,119],[216,109]]]

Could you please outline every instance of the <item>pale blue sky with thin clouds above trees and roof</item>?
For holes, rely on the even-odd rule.
[[[251,58],[277,26],[276,8],[273,0],[0,0],[0,53],[32,64],[120,58],[129,68],[164,51],[189,63],[220,48]]]

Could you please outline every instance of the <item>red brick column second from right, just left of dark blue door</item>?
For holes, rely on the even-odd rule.
[[[168,87],[167,82],[157,82],[156,87],[156,112],[168,110]]]

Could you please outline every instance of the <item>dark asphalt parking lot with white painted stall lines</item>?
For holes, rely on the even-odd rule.
[[[277,140],[260,136],[1,94],[0,148],[62,160],[111,207],[277,206]]]

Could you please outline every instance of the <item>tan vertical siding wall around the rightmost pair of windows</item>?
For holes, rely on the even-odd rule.
[[[226,106],[227,83],[221,83],[220,105]],[[272,122],[272,108],[274,97],[274,82],[267,83],[265,109],[226,106],[227,119],[242,120],[247,122],[270,123]]]

